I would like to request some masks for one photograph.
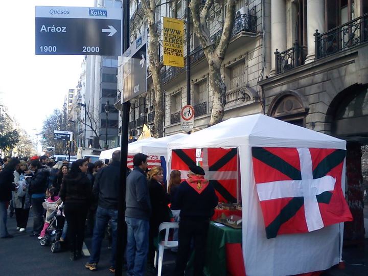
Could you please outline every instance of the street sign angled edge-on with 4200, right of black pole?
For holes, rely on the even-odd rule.
[[[130,45],[122,57],[123,96],[125,103],[147,90],[147,39],[141,36]]]

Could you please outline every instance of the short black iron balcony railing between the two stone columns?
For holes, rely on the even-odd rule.
[[[276,49],[275,55],[275,74],[281,74],[292,68],[303,65],[307,57],[307,47],[300,46],[295,41],[293,47],[283,52]]]

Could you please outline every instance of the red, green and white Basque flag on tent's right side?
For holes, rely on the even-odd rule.
[[[252,147],[268,239],[353,220],[341,189],[346,151]]]

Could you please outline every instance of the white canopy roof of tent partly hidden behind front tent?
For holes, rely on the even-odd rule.
[[[187,134],[177,133],[157,139],[149,137],[147,139],[138,140],[128,144],[128,155],[142,152],[147,155],[159,155],[166,158],[168,143],[173,142],[177,139],[181,139],[185,136],[187,136]],[[120,147],[102,151],[100,154],[100,159],[110,159],[112,157],[112,152],[116,150],[120,150]]]

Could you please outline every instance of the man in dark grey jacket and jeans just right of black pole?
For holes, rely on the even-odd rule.
[[[149,220],[151,201],[148,192],[147,155],[137,153],[133,157],[134,170],[127,177],[125,221],[128,226],[127,276],[143,276],[148,254]]]

